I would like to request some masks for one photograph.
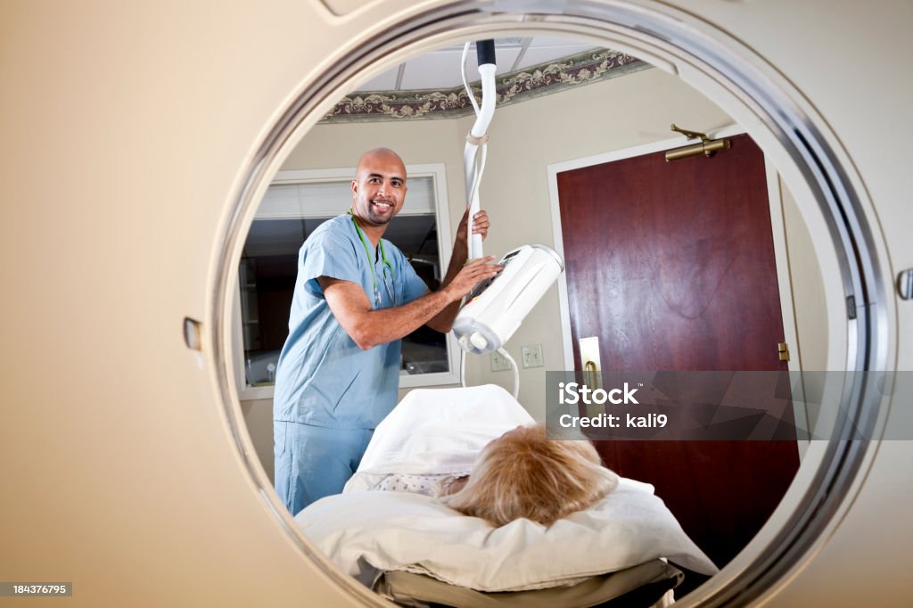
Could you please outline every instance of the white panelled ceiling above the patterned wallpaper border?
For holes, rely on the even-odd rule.
[[[475,47],[476,45],[472,44],[467,56],[469,82],[478,79]],[[598,47],[567,38],[497,38],[495,57],[498,76],[554,59],[577,55],[591,48]],[[462,54],[463,44],[439,48],[383,72],[365,82],[358,90],[452,89],[462,86],[463,80],[460,76]]]

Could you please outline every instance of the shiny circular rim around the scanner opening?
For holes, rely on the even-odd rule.
[[[439,5],[401,17],[383,33],[352,41],[335,55],[331,68],[302,83],[260,145],[231,203],[211,289],[212,322],[206,324],[227,418],[248,473],[289,536],[317,567],[366,605],[388,604],[310,546],[264,475],[232,381],[231,324],[226,320],[247,231],[281,162],[336,100],[405,58],[467,40],[539,34],[584,39],[677,74],[750,134],[781,173],[810,231],[829,236],[814,243],[824,277],[828,332],[837,345],[828,354],[827,369],[894,367],[893,298],[883,279],[886,254],[874,213],[839,141],[809,101],[750,48],[692,16],[672,18],[643,6],[611,3],[557,3],[557,9],[547,4],[512,2],[505,5],[509,9],[496,12],[472,3]],[[855,299],[853,319],[847,314],[849,299]],[[876,439],[882,436],[879,425],[886,408],[884,395],[863,373],[847,374],[834,398],[849,415],[828,430],[830,439],[811,443],[792,486],[754,540],[718,575],[679,599],[681,605],[741,604],[760,598],[802,568],[839,524],[864,481]],[[850,440],[855,432],[873,440]]]

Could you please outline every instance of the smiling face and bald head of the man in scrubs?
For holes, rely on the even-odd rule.
[[[386,225],[405,200],[405,165],[386,148],[365,152],[352,180],[352,212],[362,223]]]

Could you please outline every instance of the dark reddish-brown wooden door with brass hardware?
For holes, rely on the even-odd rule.
[[[761,150],[663,152],[558,174],[574,363],[603,370],[783,371]],[[602,441],[606,466],[652,483],[720,567],[757,533],[799,465],[793,441]],[[692,579],[693,580],[693,579]]]

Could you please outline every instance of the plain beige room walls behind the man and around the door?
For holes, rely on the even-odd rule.
[[[470,116],[456,120],[321,124],[308,133],[282,168],[349,167],[361,152],[382,145],[400,152],[407,164],[443,162],[451,222],[456,227],[465,205],[462,151],[473,121]],[[669,139],[673,135],[669,131],[672,122],[698,131],[714,131],[732,123],[712,102],[659,69],[499,108],[489,130],[488,162],[481,185],[482,206],[492,222],[486,253],[500,256],[519,245],[553,245],[550,164]],[[792,197],[787,194],[783,198],[787,208],[786,233],[796,240],[797,250],[803,252],[801,259],[813,259],[813,251],[812,257],[807,253],[811,240],[801,217],[793,210]],[[347,203],[341,201],[340,208]],[[816,265],[802,268],[802,285],[820,284],[820,276],[813,277]],[[803,304],[797,305],[796,316],[821,320],[813,311],[821,306],[818,298],[823,298],[823,292],[806,295],[798,293],[799,289],[802,287],[793,295],[802,297]],[[826,327],[812,329],[809,335],[815,343],[824,334],[826,351]],[[800,333],[800,339],[803,337],[804,332]],[[519,401],[530,414],[543,419],[545,371],[564,369],[557,288],[551,288],[533,309],[507,349],[520,361],[520,347],[526,344],[542,345],[544,366],[520,370]],[[816,353],[814,346],[806,352],[809,358],[816,357]],[[488,356],[470,356],[467,383],[496,383],[510,389],[512,375],[490,372]],[[269,401],[245,404],[251,436],[271,475],[270,410]]]

